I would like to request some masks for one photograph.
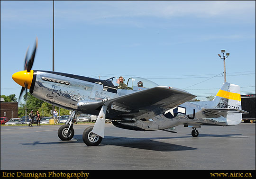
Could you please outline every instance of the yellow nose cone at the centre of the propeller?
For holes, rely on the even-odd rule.
[[[25,87],[25,84],[27,84],[27,89],[30,89],[31,83],[33,80],[33,74],[34,71],[31,70],[30,72],[27,72],[27,70],[16,72],[12,75],[12,79],[18,83],[20,86]]]

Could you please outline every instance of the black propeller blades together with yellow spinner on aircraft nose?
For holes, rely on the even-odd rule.
[[[29,48],[29,46],[28,46],[28,48]],[[27,48],[27,51],[28,51],[28,48]],[[33,80],[33,74],[34,74],[34,71],[31,70],[31,68],[32,68],[33,63],[34,63],[36,51],[37,51],[37,38],[36,38],[36,45],[34,47],[34,51],[31,54],[29,60],[28,60],[27,52],[26,52],[25,59],[24,59],[24,61],[25,61],[24,71],[16,72],[12,75],[12,79],[16,83],[18,83],[20,86],[22,86],[20,94],[19,94],[18,101],[20,100],[20,97],[22,96],[22,93],[24,91],[26,91],[26,93],[27,93],[27,89],[30,89],[30,87],[31,87],[31,83],[32,83],[32,80]]]

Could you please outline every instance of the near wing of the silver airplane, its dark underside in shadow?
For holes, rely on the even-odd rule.
[[[108,106],[106,118],[148,120],[195,97],[182,89],[158,86],[102,102],[79,102],[78,107],[86,109],[105,104]]]

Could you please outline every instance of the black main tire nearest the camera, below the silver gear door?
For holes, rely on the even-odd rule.
[[[82,133],[82,140],[87,146],[97,146],[101,143],[102,137],[92,133],[93,126],[87,127]]]

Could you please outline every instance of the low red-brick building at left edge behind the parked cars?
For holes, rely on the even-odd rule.
[[[1,117],[17,118],[18,102],[1,102]]]

